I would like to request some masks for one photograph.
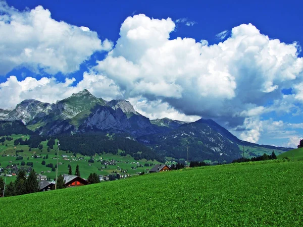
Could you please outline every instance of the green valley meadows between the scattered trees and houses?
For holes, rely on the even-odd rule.
[[[10,136],[13,137],[14,140],[18,139],[18,138],[29,138],[26,135],[13,135]],[[45,172],[42,173],[42,175],[45,175],[47,177],[50,177],[51,179],[54,179],[56,176],[56,172],[52,172],[50,167],[46,167],[45,165],[42,165],[41,162],[42,160],[45,161],[46,164],[48,163],[53,163],[53,165],[55,166],[57,164],[57,159],[53,159],[56,157],[55,153],[58,150],[58,146],[57,146],[57,141],[56,141],[56,145],[54,145],[54,149],[51,149],[49,152],[47,152],[47,141],[42,142],[41,144],[43,145],[43,149],[39,150],[38,148],[32,148],[31,151],[29,151],[29,147],[27,145],[18,145],[16,146],[16,148],[14,148],[14,140],[12,141],[5,141],[4,145],[2,145],[0,143],[0,166],[1,167],[6,167],[9,164],[18,164],[20,166],[21,161],[25,161],[26,162],[33,162],[33,168],[35,169],[36,173],[41,173],[41,172]],[[19,155],[23,156],[23,160],[16,160],[16,157],[14,156],[16,154],[16,150],[21,150],[23,149],[24,152],[23,153],[19,153]],[[41,158],[34,158],[32,157],[34,155],[34,152],[36,152],[35,154],[38,156],[41,156]],[[121,152],[121,151],[120,151]],[[119,153],[120,153],[119,152]],[[6,156],[2,156],[3,154],[5,154]],[[46,154],[48,155],[48,159],[43,159],[42,157],[46,156]],[[62,158],[62,154],[66,154],[69,156],[69,160],[63,160]],[[7,156],[9,155],[9,156]],[[13,156],[12,156],[13,155]],[[59,151],[59,160],[58,162],[61,162],[62,164],[58,165],[58,174],[67,174],[68,173],[68,164],[70,164],[72,166],[72,172],[74,174],[75,169],[76,169],[76,165],[79,165],[79,170],[80,170],[80,174],[82,178],[87,179],[90,173],[96,173],[98,175],[108,175],[112,172],[117,172],[120,173],[120,168],[122,169],[127,169],[127,173],[130,175],[136,174],[138,172],[143,172],[143,171],[147,171],[147,168],[151,168],[151,167],[138,167],[137,169],[132,169],[131,167],[134,166],[136,167],[137,164],[134,164],[133,162],[139,162],[139,164],[144,165],[144,163],[152,163],[153,165],[158,164],[159,162],[154,160],[146,160],[146,159],[141,159],[141,160],[135,160],[132,156],[127,155],[127,156],[121,156],[121,155],[114,155],[114,154],[102,154],[102,155],[96,155],[94,156],[95,162],[94,163],[88,163],[88,160],[90,159],[90,156],[84,156],[84,159],[82,160],[72,160],[72,158],[70,157],[71,155],[73,155],[73,153],[69,153],[66,151]],[[83,156],[80,154],[77,154],[77,157],[79,156]],[[28,158],[28,159],[27,159]],[[103,160],[109,159],[109,160],[116,160],[117,163],[116,165],[108,165],[107,168],[101,168],[102,165],[100,162],[97,162],[96,160],[101,160],[101,158]],[[11,162],[10,162],[11,161]],[[90,165],[89,165],[90,164]],[[118,166],[120,167],[118,169]],[[25,165],[25,167],[27,167]],[[99,169],[102,169],[102,171],[100,171]],[[49,173],[47,173],[47,171],[49,171]],[[14,181],[15,177],[7,177],[7,182],[10,183],[11,181]]]

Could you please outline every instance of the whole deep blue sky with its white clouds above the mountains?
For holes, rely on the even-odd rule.
[[[87,89],[150,120],[213,119],[296,147],[303,4],[230,2],[0,0],[0,108]]]

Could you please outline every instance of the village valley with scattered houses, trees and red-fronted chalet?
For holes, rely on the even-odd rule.
[[[24,170],[25,177],[28,178],[34,169],[39,190],[52,190],[56,184],[57,163],[58,176],[63,176],[65,187],[69,188],[90,184],[87,181],[90,174],[97,176],[97,182],[113,181],[169,171],[171,164],[175,163],[168,161],[168,164],[162,164],[156,160],[135,160],[130,155],[119,155],[121,150],[117,155],[104,153],[84,156],[60,150],[57,140],[53,149],[46,146],[47,141],[41,142],[38,148],[14,144],[16,139],[27,139],[27,137],[27,135],[12,135],[0,145],[0,176],[6,178],[6,184],[15,181],[20,170]],[[78,174],[75,172],[77,168]]]

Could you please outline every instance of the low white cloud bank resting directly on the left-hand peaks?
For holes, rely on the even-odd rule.
[[[18,81],[15,76],[10,76],[6,82],[0,83],[0,106],[14,108],[24,99],[31,98],[55,103],[83,89],[88,89],[96,97],[107,100],[123,96],[114,81],[102,75],[85,72],[83,79],[76,86],[72,86],[75,81],[75,78],[66,78],[64,82],[59,82],[54,77],[42,77],[40,80],[27,77]]]

